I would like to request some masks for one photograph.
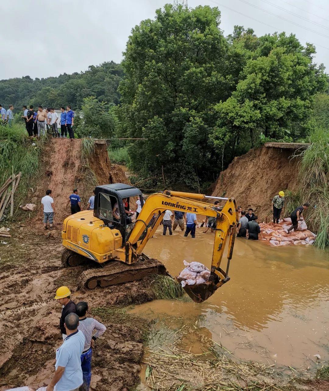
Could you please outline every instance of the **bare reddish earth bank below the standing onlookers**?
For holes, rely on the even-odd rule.
[[[81,140],[53,138],[49,140],[42,154],[42,172],[31,201],[37,205],[35,221],[42,219],[41,198],[47,189],[52,190],[56,213],[55,224],[61,224],[70,214],[65,208],[73,188],[79,189],[82,208],[87,207],[92,189],[105,183],[128,183],[123,170],[111,165],[105,143],[95,143],[92,155],[83,158]]]

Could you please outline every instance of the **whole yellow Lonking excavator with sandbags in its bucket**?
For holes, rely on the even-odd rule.
[[[126,212],[132,197],[139,198],[142,206],[135,222]],[[218,199],[224,205],[213,205],[205,202],[206,199]],[[127,200],[128,206],[123,200]],[[233,198],[165,190],[150,195],[144,203],[143,195],[136,187],[123,183],[97,186],[94,210],[75,213],[63,222],[62,265],[86,264],[87,258],[94,261],[93,267],[83,271],[78,281],[79,288],[89,289],[139,280],[150,273],[165,274],[164,265],[148,258],[143,249],[167,209],[216,217],[210,278],[206,283],[184,287],[193,301],[201,303],[230,280],[228,270],[238,219]],[[227,240],[228,260],[223,270],[220,265]]]

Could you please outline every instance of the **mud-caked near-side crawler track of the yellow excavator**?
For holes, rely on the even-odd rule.
[[[140,258],[128,265],[121,261],[110,261],[103,267],[88,269],[78,278],[78,289],[94,289],[97,286],[121,284],[140,280],[148,274],[166,274],[166,268],[157,259]]]

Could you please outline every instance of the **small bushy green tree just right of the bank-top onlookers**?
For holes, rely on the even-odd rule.
[[[83,98],[83,120],[77,126],[80,137],[110,138],[116,131],[117,118],[111,106],[96,97]]]

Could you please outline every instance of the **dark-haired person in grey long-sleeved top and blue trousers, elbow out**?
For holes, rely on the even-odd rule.
[[[76,304],[76,314],[79,317],[78,330],[80,330],[85,337],[85,346],[83,347],[83,352],[81,354],[83,384],[79,389],[80,391],[89,391],[92,348],[94,348],[94,342],[96,339],[103,335],[106,331],[106,327],[99,323],[96,319],[87,317],[87,311],[88,303],[85,301],[79,301],[79,303]],[[95,330],[96,333],[94,334]]]

